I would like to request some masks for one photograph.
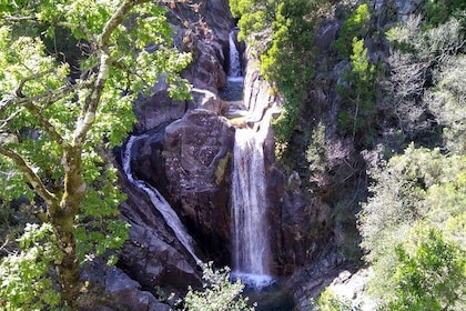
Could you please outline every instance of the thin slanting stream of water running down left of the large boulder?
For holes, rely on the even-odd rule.
[[[128,180],[134,184],[134,187],[143,190],[149,198],[153,207],[162,214],[163,219],[165,220],[166,224],[173,230],[176,239],[181,242],[181,244],[188,250],[188,252],[192,255],[194,261],[197,264],[201,264],[201,260],[196,257],[193,250],[193,240],[191,235],[188,234],[186,229],[184,228],[183,223],[181,222],[180,218],[176,215],[172,207],[166,202],[166,200],[160,194],[160,192],[152,185],[148,184],[146,182],[135,179],[133,172],[131,170],[131,152],[134,142],[138,140],[144,139],[148,136],[140,136],[140,137],[130,137],[126,142],[126,148],[122,154],[122,162],[123,162],[123,171],[126,174]]]

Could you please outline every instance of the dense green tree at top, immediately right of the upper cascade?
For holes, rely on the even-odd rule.
[[[315,28],[330,11],[326,0],[231,0],[240,39],[254,48],[261,73],[284,100],[274,120],[277,149],[286,149],[315,73]],[[284,150],[281,150],[283,152]]]

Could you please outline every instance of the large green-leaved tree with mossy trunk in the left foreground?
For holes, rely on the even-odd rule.
[[[30,278],[37,287],[18,293],[14,278],[2,279],[7,308],[54,303],[75,310],[84,254],[122,245],[125,225],[115,218],[122,195],[109,149],[131,130],[133,100],[158,79],[166,79],[172,94],[189,96],[178,72],[190,57],[173,47],[165,19],[165,6],[176,2],[186,1],[0,1],[0,168],[6,175],[0,194],[3,202],[27,199],[44,223],[30,227],[27,233],[29,233],[24,251],[13,253],[24,258],[32,249],[31,264],[41,258],[41,273]],[[79,62],[58,49],[57,42],[68,39],[78,43]],[[70,66],[75,63],[79,68]],[[87,249],[93,244],[93,251]],[[2,272],[24,268],[11,268],[14,262],[4,260]],[[62,301],[40,298],[53,281],[49,264],[57,268]],[[43,278],[49,281],[41,285]],[[18,297],[28,290],[30,300]]]

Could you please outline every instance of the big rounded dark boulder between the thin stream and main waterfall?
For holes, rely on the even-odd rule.
[[[229,263],[230,170],[234,130],[194,109],[165,131],[165,173],[172,201],[210,259]]]

